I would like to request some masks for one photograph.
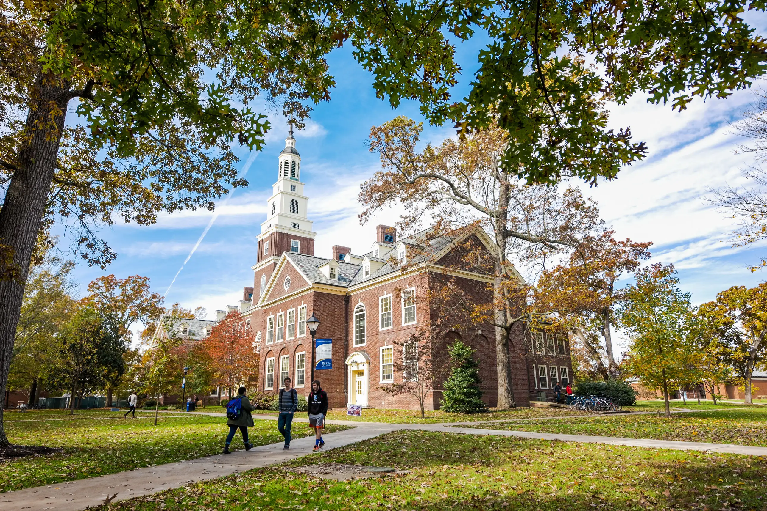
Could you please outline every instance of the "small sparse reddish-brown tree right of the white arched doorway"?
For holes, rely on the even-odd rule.
[[[395,381],[379,388],[393,396],[412,395],[420,405],[423,418],[426,398],[434,390],[437,377],[432,359],[432,336],[430,332],[420,330],[410,334],[404,342],[393,342],[393,345],[400,348],[399,358],[394,357]],[[397,373],[402,375],[402,382],[397,382]]]

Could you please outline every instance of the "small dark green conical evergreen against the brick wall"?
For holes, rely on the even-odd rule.
[[[476,414],[486,411],[482,401],[482,391],[479,390],[479,362],[473,355],[474,350],[463,341],[453,342],[448,349],[450,355],[450,376],[443,384],[443,401],[440,407],[443,411],[462,414]]]

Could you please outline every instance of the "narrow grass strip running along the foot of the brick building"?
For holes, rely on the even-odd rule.
[[[495,410],[484,414],[449,414],[441,410],[426,411],[421,418],[420,410],[397,410],[390,408],[369,408],[362,411],[362,417],[347,415],[345,410],[328,411],[328,420],[387,422],[390,424],[436,424],[441,422],[501,421],[507,419],[529,419],[561,417],[563,415],[587,415],[585,411],[570,408],[513,408]],[[298,414],[296,414],[298,416]]]

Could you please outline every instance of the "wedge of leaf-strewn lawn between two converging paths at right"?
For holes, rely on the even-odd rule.
[[[767,407],[731,405],[723,411],[672,414],[670,418],[664,415],[605,415],[476,427],[767,447]]]

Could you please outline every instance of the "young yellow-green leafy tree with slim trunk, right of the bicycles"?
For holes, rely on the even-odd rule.
[[[634,277],[636,284],[626,288],[619,315],[631,341],[627,369],[647,388],[663,389],[670,417],[669,382],[686,383],[697,377],[700,355],[690,336],[690,293],[676,287],[679,278],[673,265],[656,263]]]

